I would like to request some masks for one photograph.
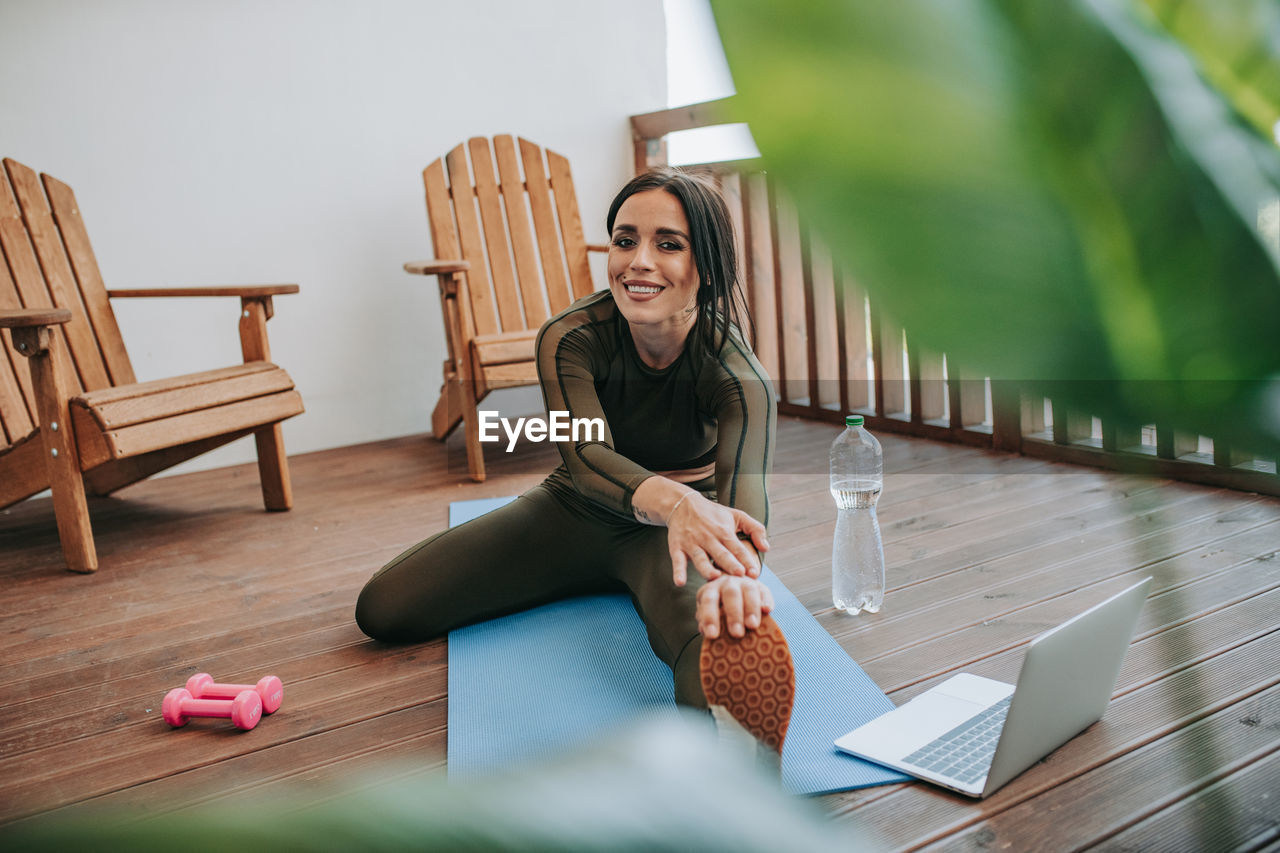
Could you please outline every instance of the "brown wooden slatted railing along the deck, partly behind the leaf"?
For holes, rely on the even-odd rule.
[[[631,117],[635,169],[667,163],[668,133],[723,123],[727,101]],[[1124,428],[931,352],[835,264],[758,160],[709,173],[737,229],[755,351],[778,411],[1042,459],[1280,494],[1275,459],[1164,425]]]

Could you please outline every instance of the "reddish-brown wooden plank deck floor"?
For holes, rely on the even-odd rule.
[[[1151,574],[1103,720],[989,799],[911,783],[820,798],[886,849],[1257,849],[1280,838],[1280,501],[882,437],[890,593],[829,603],[835,428],[785,420],[771,566],[895,702],[964,667],[1014,680],[1021,646]],[[392,648],[352,622],[388,558],[451,501],[536,483],[553,452],[406,438],[292,460],[296,508],[261,511],[252,466],[93,501],[102,569],[61,567],[45,500],[0,512],[0,824],[84,804],[152,812],[444,763],[445,644]],[[275,672],[251,735],[174,733],[160,699],[205,670]]]

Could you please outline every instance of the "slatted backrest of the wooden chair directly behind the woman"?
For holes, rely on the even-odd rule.
[[[538,329],[594,289],[563,156],[474,137],[426,167],[422,183],[435,256],[471,263],[462,320],[472,334]]]

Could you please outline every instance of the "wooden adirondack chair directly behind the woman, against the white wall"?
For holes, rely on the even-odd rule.
[[[431,433],[444,441],[465,424],[476,482],[485,476],[480,401],[538,382],[538,329],[594,289],[588,251],[608,250],[582,237],[568,160],[549,150],[544,158],[529,140],[518,147],[517,156],[511,136],[495,136],[492,149],[474,137],[422,170],[436,257],[404,264],[439,277],[449,357]]]

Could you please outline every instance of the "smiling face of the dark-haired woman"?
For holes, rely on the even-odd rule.
[[[698,314],[698,265],[680,199],[646,190],[622,202],[609,234],[608,275],[632,327],[689,333]]]

